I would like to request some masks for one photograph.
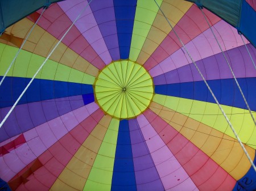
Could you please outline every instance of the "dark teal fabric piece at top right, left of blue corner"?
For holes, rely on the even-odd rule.
[[[188,0],[186,0],[188,1]],[[205,8],[220,16],[226,22],[237,27],[240,20],[242,0],[189,0],[193,3],[199,3]]]

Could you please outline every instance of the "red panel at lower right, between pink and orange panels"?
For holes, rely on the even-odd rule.
[[[230,190],[230,188],[234,188],[236,180],[192,142],[152,111],[147,110],[143,114],[148,121],[151,121],[153,128],[199,190],[216,190],[217,188]],[[163,132],[168,132],[171,137],[165,138]]]

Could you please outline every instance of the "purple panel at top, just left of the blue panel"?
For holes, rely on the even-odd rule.
[[[112,60],[119,60],[120,54],[113,1],[92,1],[90,3],[90,9],[92,9]]]

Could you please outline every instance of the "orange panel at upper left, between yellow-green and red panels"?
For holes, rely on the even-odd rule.
[[[30,31],[33,24],[34,23],[31,22],[31,20],[24,18],[20,20],[18,23],[15,23],[13,26],[7,28],[5,33],[13,35],[14,37],[20,39],[25,39],[27,33]],[[47,57],[49,52],[51,52],[51,50],[57,44],[58,41],[59,40],[57,40],[54,36],[49,34],[43,28],[35,26],[30,37],[28,37],[26,44],[24,44],[23,50],[27,50],[28,52],[38,54],[42,57]],[[10,43],[10,41],[1,40],[1,38],[0,42],[14,46],[14,44]],[[68,48],[63,43],[60,43],[59,46],[57,46],[55,52],[53,52],[49,59],[56,62],[60,62],[63,65],[72,67],[76,70],[82,71],[93,76],[96,76],[98,74],[98,69],[96,67],[91,65],[88,61],[79,56],[79,54],[74,52],[72,49]],[[90,67],[88,70],[89,65]]]

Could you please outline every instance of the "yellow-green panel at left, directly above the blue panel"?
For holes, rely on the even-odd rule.
[[[0,43],[0,75],[3,76],[18,48]],[[32,78],[46,58],[21,50],[13,66],[7,73],[9,77]],[[61,63],[48,60],[36,76],[38,79],[58,80],[63,82],[93,84],[95,77],[72,69]]]

